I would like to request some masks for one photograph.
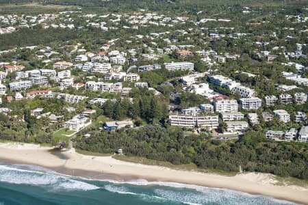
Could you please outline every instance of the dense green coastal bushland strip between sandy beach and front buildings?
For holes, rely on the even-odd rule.
[[[91,137],[82,137],[85,133],[90,133]],[[89,128],[80,132],[75,147],[109,154],[122,148],[127,156],[168,161],[174,165],[193,163],[201,169],[224,171],[239,171],[242,167],[243,171],[308,179],[307,144],[274,142],[259,132],[248,132],[235,141],[218,141],[157,125],[112,132]]]

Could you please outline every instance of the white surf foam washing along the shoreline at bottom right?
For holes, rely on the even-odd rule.
[[[177,182],[148,182],[147,180],[131,180],[129,182],[108,181],[114,184],[131,184],[136,186],[163,186],[168,189],[172,187],[175,189],[185,189],[168,191],[164,189],[156,189],[155,193],[159,197],[168,200],[182,202],[184,204],[203,204],[205,202],[220,202],[221,204],[294,204],[284,200],[276,200],[272,197],[264,195],[251,195],[240,191],[233,191],[229,189],[209,188],[205,186],[198,186],[194,184],[181,184]],[[239,203],[240,200],[240,203]]]

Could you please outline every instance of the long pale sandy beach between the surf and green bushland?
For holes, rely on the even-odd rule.
[[[275,185],[276,180],[266,173],[242,173],[220,176],[214,173],[180,171],[167,167],[141,165],[116,160],[111,156],[86,156],[71,149],[61,159],[49,150],[51,147],[21,143],[0,143],[0,160],[39,165],[60,173],[98,179],[179,182],[225,188],[246,193],[268,195],[277,199],[308,204],[308,188]]]

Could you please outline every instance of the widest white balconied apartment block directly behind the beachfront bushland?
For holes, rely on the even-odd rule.
[[[182,128],[208,128],[209,130],[218,128],[218,115],[185,115],[175,114],[169,116],[170,125]]]

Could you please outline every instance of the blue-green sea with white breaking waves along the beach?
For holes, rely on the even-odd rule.
[[[294,204],[261,195],[172,182],[87,180],[31,165],[0,165],[0,205]]]

